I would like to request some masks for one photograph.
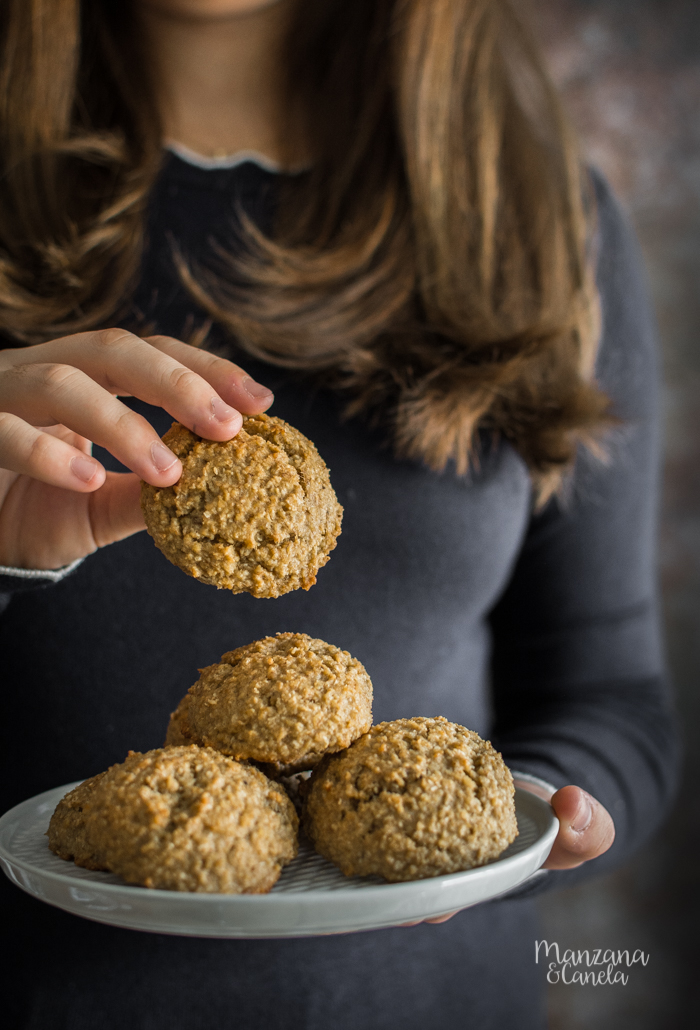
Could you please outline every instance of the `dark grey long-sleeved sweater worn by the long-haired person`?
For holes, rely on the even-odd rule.
[[[266,224],[275,175],[171,157],[153,196],[135,305],[180,336],[197,316],[168,234],[204,258],[236,198]],[[376,721],[444,715],[490,736],[512,767],[574,783],[611,813],[614,848],[568,884],[626,858],[659,825],[677,746],[664,685],[654,566],[658,400],[653,319],[633,238],[596,179],[604,332],[598,376],[623,425],[609,459],[583,455],[569,495],[532,516],[523,461],[484,441],[468,479],[391,456],[341,401],[235,355],[271,409],[317,445],[345,507],[317,584],[275,600],[217,591],[145,534],[37,588],[0,578],[0,809],[162,744],[197,670],[278,630],[347,649],[375,685]],[[134,407],[159,432],[164,411]],[[118,468],[101,453],[109,468]],[[31,588],[28,588],[31,587]],[[542,1026],[528,890],[442,926],[330,938],[220,941],[82,921],[4,881],[9,1027],[31,1030],[475,1030]],[[530,893],[532,891],[530,890]]]

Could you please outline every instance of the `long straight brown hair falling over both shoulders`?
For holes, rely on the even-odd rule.
[[[0,330],[36,342],[124,311],[161,131],[122,3],[5,0],[1,32]],[[282,68],[313,166],[218,275],[180,255],[194,298],[398,453],[463,473],[487,428],[546,497],[607,402],[590,187],[527,31],[507,0],[304,0]]]

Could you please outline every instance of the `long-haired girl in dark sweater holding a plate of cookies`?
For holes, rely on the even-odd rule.
[[[2,809],[160,746],[199,665],[291,629],[357,655],[377,721],[493,739],[561,821],[514,896],[322,940],[118,930],[5,882],[10,1025],[541,1027],[529,895],[630,854],[676,760],[652,320],[529,37],[506,0],[2,19]],[[178,479],[171,417],[227,440],[273,391],[346,514],[267,603],[164,561],[138,494]]]

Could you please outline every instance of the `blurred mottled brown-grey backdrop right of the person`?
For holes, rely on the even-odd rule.
[[[524,6],[646,260],[665,375],[661,578],[687,755],[675,811],[632,864],[540,902],[545,937],[561,948],[650,954],[626,986],[551,987],[550,1030],[690,1030],[700,1026],[700,2]]]

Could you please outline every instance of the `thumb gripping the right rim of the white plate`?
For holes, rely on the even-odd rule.
[[[615,824],[606,809],[581,787],[562,787],[551,802],[559,833],[546,869],[573,869],[602,855],[615,840]]]

